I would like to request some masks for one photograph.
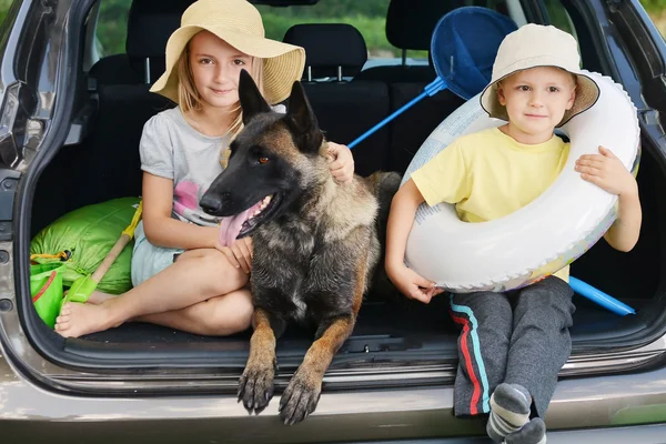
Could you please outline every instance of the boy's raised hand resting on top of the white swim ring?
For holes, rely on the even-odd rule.
[[[638,194],[638,184],[634,175],[610,150],[604,147],[599,147],[599,154],[581,155],[575,169],[583,180],[594,183],[610,194]]]

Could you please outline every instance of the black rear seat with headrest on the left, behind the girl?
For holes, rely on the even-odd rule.
[[[71,209],[141,193],[139,142],[143,125],[174,105],[149,91],[150,84],[142,77],[145,60],[151,62],[151,80],[162,74],[167,41],[191,2],[169,0],[157,7],[151,0],[134,0],[128,23],[128,54],[124,59],[102,59],[91,69],[97,84],[89,85],[98,98],[98,114],[91,133],[78,147],[80,152],[72,155],[72,168],[80,179],[78,189],[69,194]]]

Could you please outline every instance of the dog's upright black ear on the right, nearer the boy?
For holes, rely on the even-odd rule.
[[[296,144],[303,152],[319,152],[323,142],[316,117],[307,101],[301,82],[295,81],[289,98],[286,122],[294,133]]]

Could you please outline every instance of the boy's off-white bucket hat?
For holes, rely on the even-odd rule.
[[[493,64],[491,83],[481,93],[481,105],[492,117],[508,120],[506,108],[497,100],[497,82],[516,71],[536,67],[556,67],[576,74],[576,99],[558,127],[596,103],[599,87],[581,71],[576,39],[555,27],[525,24],[504,38]]]

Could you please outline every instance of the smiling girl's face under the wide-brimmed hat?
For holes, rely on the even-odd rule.
[[[252,61],[251,56],[209,31],[194,36],[190,40],[190,67],[202,105],[236,107],[241,70],[252,72]]]

